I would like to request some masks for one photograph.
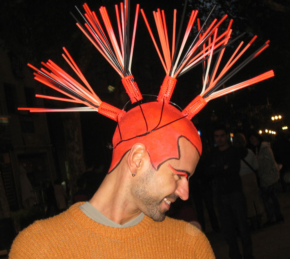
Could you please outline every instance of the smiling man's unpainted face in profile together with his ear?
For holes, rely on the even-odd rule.
[[[121,162],[122,165],[126,158],[130,173],[136,173],[127,179],[130,182],[130,193],[127,194],[131,197],[130,202],[157,222],[164,220],[171,202],[179,197],[187,200],[189,196],[188,180],[195,170],[199,154],[184,137],[178,141],[178,151],[178,159],[169,159],[156,170],[145,146],[136,143]]]

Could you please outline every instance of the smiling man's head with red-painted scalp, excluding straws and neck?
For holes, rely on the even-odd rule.
[[[202,147],[192,122],[175,107],[150,102],[128,111],[113,146],[108,176],[125,174],[126,196],[135,209],[162,221],[171,202],[188,199],[188,179]]]

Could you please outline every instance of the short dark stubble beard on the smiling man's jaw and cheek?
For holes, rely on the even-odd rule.
[[[154,186],[154,175],[156,171],[153,167],[148,168],[144,175],[139,178],[138,184],[132,188],[132,194],[142,205],[142,212],[152,218],[156,222],[161,222],[165,219],[165,212],[161,210],[163,199],[157,198],[149,194],[148,186]],[[153,190],[154,191],[154,190]],[[176,200],[178,196],[171,194],[171,200]],[[167,198],[167,197],[166,197]]]

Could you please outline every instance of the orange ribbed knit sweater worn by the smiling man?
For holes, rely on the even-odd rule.
[[[21,231],[9,259],[215,258],[206,236],[185,221],[144,216],[133,227],[107,227],[88,218],[81,204]]]

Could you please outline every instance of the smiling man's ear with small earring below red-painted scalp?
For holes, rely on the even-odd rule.
[[[150,160],[146,146],[142,143],[135,143],[127,156],[127,164],[132,174],[143,168]]]

